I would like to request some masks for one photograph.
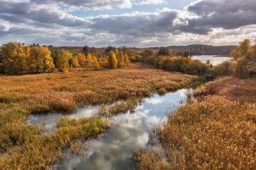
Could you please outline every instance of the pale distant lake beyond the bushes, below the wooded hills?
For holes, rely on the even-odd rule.
[[[213,56],[213,55],[202,55],[202,56],[193,56],[194,60],[201,60],[201,62],[206,63],[207,60],[210,60],[210,63],[212,65],[219,65],[220,63],[231,60],[231,57],[226,56]]]

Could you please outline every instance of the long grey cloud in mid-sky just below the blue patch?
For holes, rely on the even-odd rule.
[[[100,32],[130,36],[148,36],[159,32],[172,31],[176,11],[154,13],[134,12],[122,15],[102,15],[91,19],[89,26]]]

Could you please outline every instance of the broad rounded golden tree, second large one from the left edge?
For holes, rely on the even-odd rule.
[[[55,67],[51,51],[46,47],[32,46],[28,58],[28,67],[30,71],[33,71],[33,69],[36,69],[37,72],[51,71]]]

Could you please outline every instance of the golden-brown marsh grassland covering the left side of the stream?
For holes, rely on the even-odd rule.
[[[47,169],[81,141],[97,138],[109,123],[100,118],[61,119],[52,134],[24,124],[30,114],[71,112],[80,105],[146,97],[159,89],[185,87],[198,77],[132,64],[125,69],[2,76],[0,84],[0,169]],[[127,107],[132,104],[127,104]],[[117,111],[118,108],[112,108]]]

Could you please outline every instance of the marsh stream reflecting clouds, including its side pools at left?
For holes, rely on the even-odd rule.
[[[166,120],[169,112],[185,103],[187,93],[193,89],[180,89],[166,95],[155,94],[138,103],[134,113],[127,112],[110,118],[108,133],[98,140],[86,142],[87,151],[82,157],[64,157],[56,169],[125,170],[131,168],[131,158],[139,147],[146,147],[150,133]],[[97,114],[98,106],[86,106],[75,110],[70,118]],[[63,114],[33,115],[27,122],[42,124],[51,132]]]

